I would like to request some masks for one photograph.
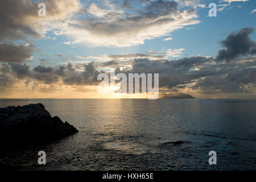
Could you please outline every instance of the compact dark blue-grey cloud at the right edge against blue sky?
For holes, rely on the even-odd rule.
[[[226,49],[218,51],[216,57],[217,61],[225,60],[230,61],[237,56],[244,56],[247,53],[256,53],[256,43],[253,42],[249,35],[252,34],[254,28],[243,28],[238,33],[230,34],[225,40],[221,42],[222,46]]]

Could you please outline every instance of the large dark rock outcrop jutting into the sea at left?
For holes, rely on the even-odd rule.
[[[51,117],[43,104],[0,108],[1,145],[40,144],[77,133],[59,117]]]

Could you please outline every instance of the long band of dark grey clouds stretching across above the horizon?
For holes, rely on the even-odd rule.
[[[105,64],[107,66],[114,64],[117,67],[116,74],[120,72],[125,74],[159,73],[159,86],[165,88],[162,89],[162,93],[183,92],[192,96],[195,94],[255,93],[256,70],[253,67],[256,65],[256,57],[243,57],[240,61],[232,63],[218,63],[215,60],[213,57],[206,56],[162,61],[134,59],[130,68],[122,70],[119,69],[118,64],[115,65],[115,62],[106,62]],[[94,63],[84,64],[83,68],[83,71],[77,71],[75,64],[71,63],[54,68],[39,65],[34,69],[27,64],[2,64],[0,67],[2,72],[0,74],[0,91],[12,90],[13,85],[20,82],[28,85],[31,81],[34,82],[33,88],[40,92],[52,90],[50,89],[51,85],[55,84],[61,88],[63,85],[97,85],[97,76],[100,71]]]

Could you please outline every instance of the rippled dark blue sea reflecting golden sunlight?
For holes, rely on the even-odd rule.
[[[1,154],[24,170],[256,169],[256,100],[1,99],[0,107],[38,102],[79,133]]]

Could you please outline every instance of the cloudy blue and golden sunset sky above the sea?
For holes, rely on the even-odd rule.
[[[256,98],[254,0],[40,2],[0,2],[0,98],[147,97],[98,93],[113,69],[159,73],[163,96]]]

